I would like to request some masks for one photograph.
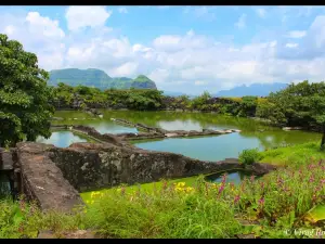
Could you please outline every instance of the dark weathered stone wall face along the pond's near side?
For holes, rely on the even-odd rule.
[[[240,169],[236,162],[202,162],[180,154],[153,152],[113,144],[75,143],[67,149],[51,147],[51,159],[79,191],[134,184],[161,178],[183,178],[220,170]],[[255,164],[256,175],[274,167]]]

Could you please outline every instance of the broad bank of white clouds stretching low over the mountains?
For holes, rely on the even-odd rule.
[[[243,15],[242,15],[243,16]],[[246,20],[242,18],[242,28]],[[107,20],[107,18],[106,18]],[[244,21],[243,21],[244,20]],[[240,21],[240,20],[239,20]],[[109,76],[134,78],[147,75],[159,89],[202,93],[238,85],[325,77],[325,16],[317,16],[306,30],[282,33],[268,41],[233,44],[200,36],[193,29],[183,35],[161,35],[152,42],[131,42],[112,28],[83,24],[63,31],[57,20],[37,12],[0,15],[0,33],[35,52],[39,65],[53,68],[100,68]],[[244,23],[244,24],[243,24]],[[82,27],[92,28],[82,30]],[[299,33],[300,31],[300,33]],[[298,38],[287,41],[287,37]],[[298,42],[298,41],[297,41]]]

